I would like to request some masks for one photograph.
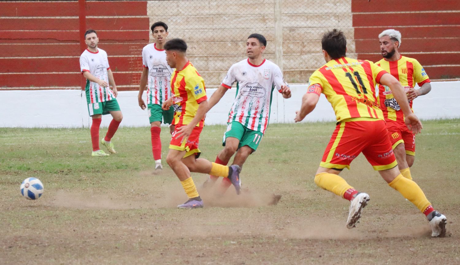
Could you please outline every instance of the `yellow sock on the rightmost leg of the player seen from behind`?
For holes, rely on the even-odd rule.
[[[426,207],[431,205],[419,185],[413,180],[406,179],[401,174],[388,183],[388,185],[401,193],[411,203],[414,203],[422,213],[425,211]]]

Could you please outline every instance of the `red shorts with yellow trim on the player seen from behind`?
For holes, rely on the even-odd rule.
[[[332,134],[320,166],[328,169],[350,169],[350,163],[361,152],[374,170],[397,165],[388,130],[383,120],[342,121]]]

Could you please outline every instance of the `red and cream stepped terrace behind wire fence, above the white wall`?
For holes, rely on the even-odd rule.
[[[459,79],[460,7],[454,2],[0,1],[0,90],[80,89],[78,59],[89,28],[109,55],[118,89],[137,90],[141,51],[153,41],[150,26],[156,21],[167,23],[169,38],[187,41],[188,57],[207,87],[217,87],[230,66],[246,58],[252,33],[266,37],[265,57],[282,68],[288,83],[306,83],[324,63],[320,39],[333,28],[345,32],[348,56],[373,61],[381,59],[377,35],[396,28],[403,34],[403,54],[418,59],[431,79]]]

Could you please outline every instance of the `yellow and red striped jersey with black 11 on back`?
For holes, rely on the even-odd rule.
[[[307,93],[323,93],[334,108],[337,122],[347,118],[383,119],[375,84],[385,73],[373,62],[342,57],[311,75]]]

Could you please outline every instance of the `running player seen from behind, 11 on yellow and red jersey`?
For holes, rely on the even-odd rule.
[[[446,217],[435,211],[420,187],[403,177],[397,169],[383,113],[377,104],[375,84],[388,86],[401,106],[407,127],[414,133],[420,132],[422,124],[412,113],[403,87],[373,62],[346,57],[343,32],[337,29],[327,32],[321,42],[326,64],[311,75],[309,88],[295,117],[295,122],[299,122],[311,113],[321,93],[327,97],[337,116],[337,127],[316,172],[316,185],[351,201],[347,228],[355,227],[369,195],[355,190],[339,173],[344,168],[349,169],[351,161],[362,152],[389,186],[426,215],[431,236],[444,237]]]

